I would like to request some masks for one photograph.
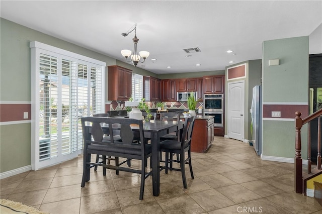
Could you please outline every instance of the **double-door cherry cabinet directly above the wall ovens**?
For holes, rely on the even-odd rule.
[[[204,93],[224,93],[225,75],[204,76]]]

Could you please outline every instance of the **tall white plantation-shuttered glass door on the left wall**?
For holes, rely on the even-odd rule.
[[[79,118],[105,112],[106,63],[31,42],[32,169],[82,152]]]

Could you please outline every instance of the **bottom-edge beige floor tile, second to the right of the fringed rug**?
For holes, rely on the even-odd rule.
[[[120,208],[116,192],[106,192],[82,197],[79,213],[96,213],[116,208]]]

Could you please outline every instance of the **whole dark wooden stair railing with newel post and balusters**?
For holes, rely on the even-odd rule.
[[[294,190],[297,193],[304,193],[303,185],[303,168],[302,168],[302,158],[301,158],[301,128],[304,124],[308,123],[308,141],[307,141],[307,174],[311,173],[311,139],[310,139],[310,122],[322,115],[322,109],[313,113],[312,115],[307,116],[306,118],[301,118],[301,113],[295,113],[295,158],[294,158]],[[318,119],[318,128],[317,128],[317,160],[316,168],[321,170],[321,122],[320,118]]]

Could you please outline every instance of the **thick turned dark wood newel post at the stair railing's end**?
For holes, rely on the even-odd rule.
[[[294,159],[294,190],[296,193],[303,193],[302,186],[302,158],[301,158],[301,128],[303,120],[301,113],[295,113],[295,159]]]

